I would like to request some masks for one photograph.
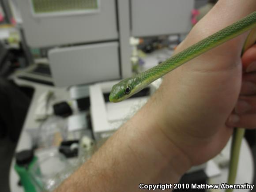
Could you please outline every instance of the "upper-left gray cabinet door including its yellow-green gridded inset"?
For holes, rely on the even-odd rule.
[[[92,1],[98,3],[98,6],[90,8],[84,5]],[[17,2],[23,19],[26,41],[31,47],[81,44],[118,38],[115,0]]]

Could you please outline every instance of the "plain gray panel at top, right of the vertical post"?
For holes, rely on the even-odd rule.
[[[132,36],[186,33],[193,8],[194,0],[131,0]]]

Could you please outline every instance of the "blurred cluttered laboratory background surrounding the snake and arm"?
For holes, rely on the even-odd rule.
[[[53,191],[162,80],[118,104],[111,87],[169,58],[216,2],[0,0],[0,192]],[[247,130],[238,184],[256,184],[255,139]],[[180,182],[226,182],[229,150]]]

